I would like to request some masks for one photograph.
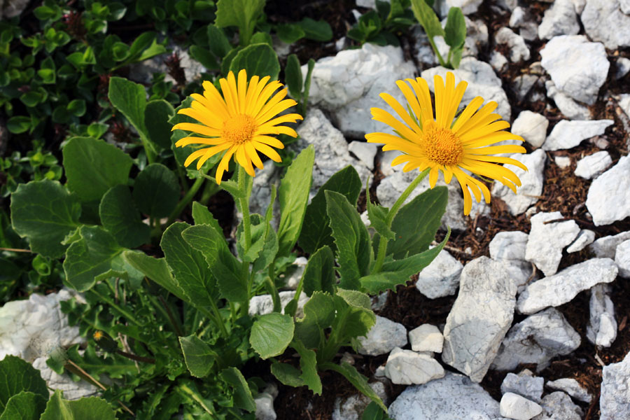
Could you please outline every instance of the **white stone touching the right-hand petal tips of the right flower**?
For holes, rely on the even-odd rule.
[[[514,194],[510,188],[504,186],[500,182],[495,182],[492,187],[492,195],[500,198],[507,204],[507,209],[514,216],[523,214],[531,205],[538,201],[542,195],[542,184],[544,183],[545,161],[547,155],[541,149],[533,151],[533,153],[514,153],[510,158],[518,160],[527,167],[525,172],[519,167],[510,167],[512,172],[521,180],[521,186],[517,187],[517,193]]]

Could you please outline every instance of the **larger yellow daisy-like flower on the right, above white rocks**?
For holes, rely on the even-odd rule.
[[[428,84],[423,78],[405,79],[413,88],[402,80],[396,85],[405,95],[407,112],[390,94],[381,93],[381,98],[398,113],[400,120],[379,108],[372,108],[372,119],[385,123],[393,128],[396,134],[370,133],[365,138],[368,143],[384,143],[384,151],[397,150],[403,154],[395,158],[391,165],[407,162],[404,172],[412,169],[423,171],[430,168],[429,184],[435,187],[440,171],[444,173],[444,181],[450,183],[453,175],[461,185],[464,197],[464,214],[469,214],[472,207],[470,190],[477,202],[482,195],[486,203],[490,202],[490,191],[484,183],[468,174],[478,174],[486,178],[496,179],[516,193],[521,186],[518,176],[510,169],[497,165],[507,163],[525,171],[521,162],[499,156],[496,153],[524,153],[525,148],[517,145],[489,146],[500,141],[523,138],[507,131],[510,123],[500,120],[501,116],[492,113],[496,102],[489,102],[482,109],[482,97],[475,97],[457,118],[456,113],[468,83],[455,85],[453,73],[447,73],[446,83],[440,76],[435,76],[435,118]],[[500,121],[497,121],[500,120]],[[465,172],[467,171],[467,172]]]

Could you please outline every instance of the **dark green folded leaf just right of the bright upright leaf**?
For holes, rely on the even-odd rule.
[[[325,191],[335,191],[344,195],[348,201],[356,206],[356,200],[361,192],[361,179],[356,169],[346,166],[335,173],[319,188],[304,214],[304,224],[300,232],[298,243],[307,253],[314,253],[321,246],[328,245],[334,251],[335,243],[332,241],[330,218],[326,213]]]

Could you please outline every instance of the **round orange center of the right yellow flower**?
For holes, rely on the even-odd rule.
[[[448,128],[438,127],[429,121],[423,128],[424,153],[429,160],[440,165],[458,165],[463,157],[461,140]]]

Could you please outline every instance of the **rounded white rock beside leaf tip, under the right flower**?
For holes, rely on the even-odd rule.
[[[429,299],[454,295],[459,286],[462,269],[461,262],[443,249],[435,260],[418,274],[416,288]]]

